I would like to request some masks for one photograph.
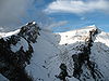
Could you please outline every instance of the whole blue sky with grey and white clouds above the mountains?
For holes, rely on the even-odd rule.
[[[68,31],[95,24],[109,32],[109,0],[0,1],[0,26],[15,29],[31,21],[53,31]]]

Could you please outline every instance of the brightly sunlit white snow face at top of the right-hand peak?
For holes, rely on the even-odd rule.
[[[59,35],[61,36],[60,44],[65,44],[65,43],[71,44],[76,41],[85,42],[89,39],[90,32],[100,33],[100,30],[95,25],[93,25],[93,26],[87,26],[87,27],[76,29],[76,30],[59,32]]]

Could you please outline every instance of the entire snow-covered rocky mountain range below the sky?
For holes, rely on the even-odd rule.
[[[23,70],[25,81],[109,81],[109,33],[100,31],[95,26],[52,33],[40,29],[35,23],[29,23],[23,28],[8,33],[0,33],[5,42],[13,42],[12,37],[17,37],[17,42],[10,43],[7,52],[0,51],[0,68],[8,67]],[[1,40],[0,39],[0,40]],[[0,43],[5,43],[0,42]],[[7,45],[7,44],[0,44]],[[13,64],[5,60],[5,55],[15,55]],[[26,54],[28,54],[26,56]],[[20,55],[24,55],[23,59]],[[26,60],[26,57],[27,60]],[[17,60],[19,58],[19,60]],[[23,63],[21,63],[22,60]],[[17,65],[15,65],[17,64]],[[4,66],[3,66],[4,65]],[[3,67],[2,67],[3,66]],[[21,69],[23,68],[23,69]],[[0,71],[8,79],[15,81],[20,76],[13,76],[10,71]],[[8,71],[11,73],[9,76]],[[15,71],[16,73],[21,73]],[[14,77],[17,77],[15,79]],[[0,77],[1,78],[1,77]],[[31,78],[31,79],[29,79]],[[3,81],[0,80],[0,81]]]

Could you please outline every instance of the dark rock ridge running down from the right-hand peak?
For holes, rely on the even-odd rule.
[[[85,45],[80,46],[81,53],[72,55],[73,62],[74,62],[74,71],[73,77],[77,78],[80,81],[87,81],[87,79],[93,78],[94,81],[104,81],[102,75],[100,70],[97,68],[96,63],[89,59],[90,55],[90,49],[93,46],[94,40],[93,38],[96,38],[96,35],[98,33],[97,29],[89,31],[89,39],[86,41]],[[88,69],[88,72],[83,73],[85,71],[83,69],[85,67]]]

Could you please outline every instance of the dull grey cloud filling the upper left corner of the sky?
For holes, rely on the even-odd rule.
[[[20,24],[34,0],[0,0],[0,26]]]

